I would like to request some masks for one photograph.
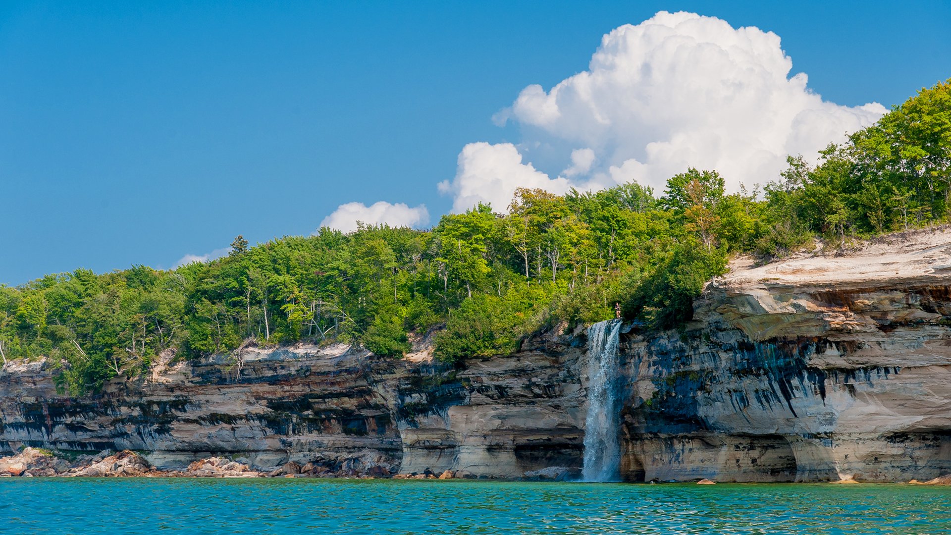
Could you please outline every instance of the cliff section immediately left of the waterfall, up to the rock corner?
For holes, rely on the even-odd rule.
[[[401,424],[404,472],[426,468],[522,477],[580,471],[587,396],[582,340],[540,336],[514,355],[467,363],[443,400]],[[449,403],[445,403],[449,402]]]

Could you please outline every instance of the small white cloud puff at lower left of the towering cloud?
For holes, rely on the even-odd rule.
[[[453,211],[463,212],[478,203],[490,203],[497,212],[506,212],[515,188],[541,188],[565,193],[568,180],[555,179],[531,163],[523,164],[522,155],[511,143],[491,145],[470,143],[459,153],[456,178],[439,183],[439,191],[452,194]]]

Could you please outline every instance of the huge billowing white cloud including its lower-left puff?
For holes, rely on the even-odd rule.
[[[605,35],[587,70],[548,91],[522,89],[494,118],[516,121],[521,142],[465,146],[439,189],[454,196],[454,211],[479,201],[504,211],[518,186],[560,193],[636,180],[662,191],[696,167],[720,171],[736,190],[775,179],[786,154],[814,162],[886,111],[824,102],[791,69],[775,33],[660,11]]]

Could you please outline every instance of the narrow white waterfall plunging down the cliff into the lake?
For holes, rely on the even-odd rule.
[[[588,418],[585,420],[584,481],[621,481],[617,346],[621,320],[588,328]]]

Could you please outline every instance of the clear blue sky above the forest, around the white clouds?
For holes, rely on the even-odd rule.
[[[658,10],[775,32],[790,76],[842,107],[951,77],[951,3],[767,4],[5,2],[0,283],[170,268],[239,233],[310,233],[350,202],[435,222],[454,206],[437,183],[475,142],[554,178],[575,147],[493,116]]]

